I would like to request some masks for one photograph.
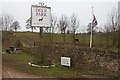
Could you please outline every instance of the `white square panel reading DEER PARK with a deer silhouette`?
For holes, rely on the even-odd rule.
[[[31,26],[50,27],[51,26],[51,8],[42,6],[31,7]]]

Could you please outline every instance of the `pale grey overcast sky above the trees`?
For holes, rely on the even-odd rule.
[[[26,20],[30,17],[31,5],[36,5],[41,0],[1,0],[0,13],[5,12],[14,16],[20,22],[22,31],[26,31]],[[51,7],[52,14],[60,17],[62,14],[70,17],[73,13],[78,16],[80,25],[87,26],[92,21],[92,6],[98,21],[98,26],[106,22],[107,14],[117,8],[119,0],[42,0]],[[86,27],[79,27],[78,32],[82,32]]]

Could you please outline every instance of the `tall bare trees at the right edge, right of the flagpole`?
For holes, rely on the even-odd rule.
[[[111,39],[112,46],[120,48],[120,40],[118,40],[120,27],[118,23],[118,10],[116,8],[113,8],[108,14],[107,22],[104,25],[104,32],[106,33],[105,38],[107,38],[107,41]],[[107,42],[107,44],[108,43],[109,42]]]

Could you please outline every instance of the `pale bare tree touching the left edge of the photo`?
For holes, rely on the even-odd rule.
[[[13,17],[10,14],[2,13],[0,16],[0,26],[1,30],[8,31],[10,29],[10,25],[13,23]]]

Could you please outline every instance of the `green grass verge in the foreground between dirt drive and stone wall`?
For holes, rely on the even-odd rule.
[[[80,77],[80,74],[72,68],[56,65],[49,68],[38,68],[28,65],[28,62],[33,62],[36,59],[34,55],[28,53],[4,54],[3,63],[17,70],[31,74],[42,75],[47,77],[54,76],[57,78],[75,78]]]

